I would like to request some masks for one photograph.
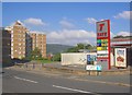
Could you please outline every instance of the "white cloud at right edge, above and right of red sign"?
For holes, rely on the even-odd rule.
[[[130,15],[132,14],[132,11],[123,11],[119,13],[118,15],[114,15],[114,19],[130,19]]]

